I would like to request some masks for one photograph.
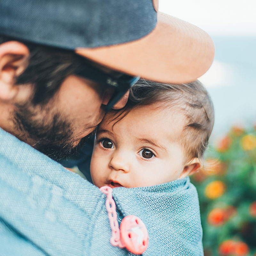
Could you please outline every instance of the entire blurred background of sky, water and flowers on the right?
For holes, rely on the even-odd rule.
[[[191,181],[205,256],[256,256],[256,2],[159,0],[159,10],[204,29],[215,44],[199,80],[215,108],[205,168]]]

